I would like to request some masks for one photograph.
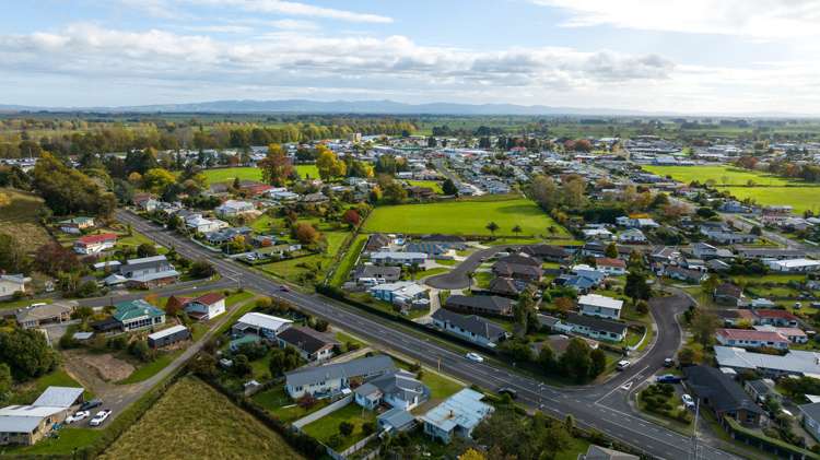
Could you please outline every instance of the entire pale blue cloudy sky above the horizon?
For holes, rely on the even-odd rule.
[[[0,0],[0,104],[820,115],[820,0]]]

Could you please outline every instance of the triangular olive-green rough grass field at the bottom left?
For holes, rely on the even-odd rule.
[[[101,458],[303,459],[277,433],[195,378],[171,387]]]

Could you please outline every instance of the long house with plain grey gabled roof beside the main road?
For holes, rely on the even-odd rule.
[[[314,398],[326,398],[349,390],[351,380],[363,381],[394,370],[396,370],[396,366],[387,355],[303,367],[285,373],[284,389],[294,400],[305,394],[312,394]]]

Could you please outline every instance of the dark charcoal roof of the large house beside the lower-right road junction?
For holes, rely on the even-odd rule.
[[[687,387],[699,398],[708,399],[717,412],[745,409],[757,414],[763,413],[738,382],[717,368],[689,366],[683,368],[683,374],[687,376]]]

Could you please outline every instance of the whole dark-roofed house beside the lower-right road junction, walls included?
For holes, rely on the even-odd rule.
[[[763,410],[749,398],[738,382],[721,369],[710,366],[683,368],[684,385],[710,408],[718,420],[724,416],[735,418],[743,425],[759,426],[764,417]]]

